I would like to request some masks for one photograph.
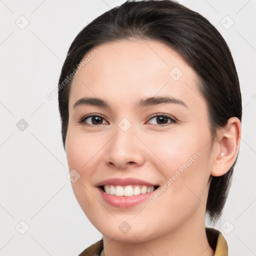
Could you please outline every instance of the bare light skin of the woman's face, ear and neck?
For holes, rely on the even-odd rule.
[[[102,233],[105,255],[212,256],[204,224],[209,178],[224,174],[234,162],[240,121],[230,118],[212,140],[198,77],[167,45],[130,39],[96,48],[99,52],[72,81],[65,146],[69,170],[80,175],[72,183],[74,194]],[[169,75],[174,67],[183,73],[176,81]],[[166,95],[187,107],[176,103],[135,106],[141,98]],[[84,96],[107,100],[111,108],[73,108]],[[79,123],[91,113],[100,114],[102,124],[92,124],[91,118]],[[177,121],[158,124],[156,117],[151,118],[155,113]],[[127,131],[118,126],[123,118],[131,123]],[[162,186],[198,151],[200,156],[154,202],[115,207],[95,187],[111,177],[136,177]],[[131,227],[125,234],[118,228],[123,221]]]

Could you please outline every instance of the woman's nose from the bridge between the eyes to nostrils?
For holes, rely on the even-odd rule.
[[[127,163],[140,165],[144,161],[141,141],[134,135],[134,125],[122,120],[115,129],[115,135],[109,141],[105,161],[118,168],[124,168]]]

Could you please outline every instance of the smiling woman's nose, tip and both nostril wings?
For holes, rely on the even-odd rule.
[[[106,145],[104,161],[116,169],[140,166],[145,161],[144,151],[145,146],[132,128],[122,131],[118,127]]]

